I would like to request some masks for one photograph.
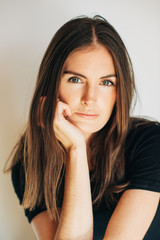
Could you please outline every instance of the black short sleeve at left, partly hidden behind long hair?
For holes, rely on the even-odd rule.
[[[19,203],[22,204],[23,201],[23,195],[24,195],[24,188],[25,188],[25,175],[24,175],[24,169],[21,162],[18,162],[13,168],[12,168],[12,184],[14,187],[14,191],[19,199]],[[30,211],[29,209],[24,209],[25,215],[28,219],[28,222],[30,223],[32,219],[38,215],[39,213],[45,211],[45,207],[35,207],[34,210]]]

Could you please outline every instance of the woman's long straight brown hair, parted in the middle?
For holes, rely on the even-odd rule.
[[[124,182],[124,141],[129,128],[129,115],[134,95],[132,64],[122,39],[104,18],[78,17],[64,24],[51,40],[39,68],[27,128],[17,144],[10,169],[22,161],[25,192],[22,205],[33,209],[45,202],[51,216],[58,215],[58,195],[65,174],[66,152],[56,139],[53,120],[62,68],[67,57],[81,47],[98,42],[110,52],[117,76],[117,100],[107,124],[94,134],[90,147],[95,167],[93,204],[104,196],[108,205]],[[45,96],[45,101],[41,101]],[[43,111],[41,114],[43,102]],[[40,124],[43,122],[44,127]]]

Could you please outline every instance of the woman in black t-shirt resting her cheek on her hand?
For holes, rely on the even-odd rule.
[[[37,239],[160,239],[160,125],[130,117],[134,91],[105,19],[58,30],[10,167]]]

